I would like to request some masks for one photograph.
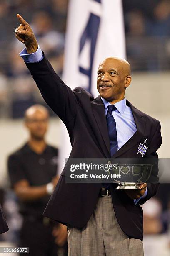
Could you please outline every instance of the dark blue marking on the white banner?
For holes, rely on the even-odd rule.
[[[96,45],[96,40],[97,40],[97,34],[99,30],[99,25],[100,25],[100,17],[90,13],[87,25],[85,27],[85,30],[82,33],[82,36],[80,38],[80,50],[79,50],[79,55],[85,46],[86,40],[90,41],[90,67],[88,69],[84,69],[79,66],[79,71],[82,74],[85,74],[89,77],[89,84],[87,91],[91,91],[91,81],[92,81],[92,64],[93,64],[93,58],[94,58],[94,53],[95,53],[95,45]]]

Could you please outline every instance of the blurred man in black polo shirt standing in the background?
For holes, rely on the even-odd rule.
[[[42,105],[28,108],[28,142],[8,158],[11,187],[19,198],[23,215],[19,246],[29,247],[30,256],[67,255],[66,227],[42,216],[58,182],[57,148],[45,141],[48,120],[48,111]]]

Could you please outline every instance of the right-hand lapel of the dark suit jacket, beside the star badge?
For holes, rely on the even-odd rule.
[[[142,113],[136,109],[128,100],[126,100],[126,105],[128,105],[133,113],[133,117],[136,124],[137,131],[133,134],[133,136],[112,156],[118,157],[132,148],[136,143],[138,143],[142,138],[145,132],[146,121]]]

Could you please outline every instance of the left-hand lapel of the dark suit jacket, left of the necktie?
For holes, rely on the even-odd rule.
[[[110,157],[110,141],[107,130],[107,122],[105,116],[105,107],[100,98],[100,95],[92,101],[92,111],[94,118],[96,120],[98,129],[100,131],[100,135],[102,137],[102,141],[105,143],[105,148],[103,148],[103,143],[100,145],[103,149],[105,156]],[[100,143],[101,140],[99,140]]]

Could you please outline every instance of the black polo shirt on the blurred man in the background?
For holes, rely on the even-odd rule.
[[[51,182],[57,174],[57,148],[47,145],[42,154],[37,154],[26,143],[11,154],[7,160],[11,188],[21,179],[26,179],[30,186],[41,186]],[[45,210],[50,195],[31,201],[19,200],[20,213],[40,216]]]

